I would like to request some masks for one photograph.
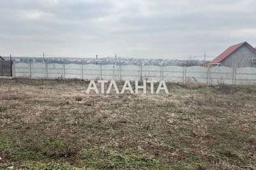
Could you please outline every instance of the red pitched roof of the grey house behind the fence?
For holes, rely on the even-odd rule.
[[[248,44],[247,42],[242,42],[240,44],[236,44],[233,46],[230,46],[229,48],[227,48],[227,50],[225,50],[223,53],[221,53],[220,55],[218,55],[216,58],[214,58],[213,61],[211,61],[210,63],[214,64],[214,63],[221,63],[222,61],[224,61],[227,57],[229,57],[231,54],[233,54],[233,52],[236,52],[236,50],[238,50],[240,47],[247,45],[249,48],[251,48],[253,51],[256,52],[256,48],[253,48],[250,44]]]

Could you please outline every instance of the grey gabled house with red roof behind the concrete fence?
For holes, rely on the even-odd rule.
[[[247,42],[235,44],[214,58],[210,65],[256,67],[256,48]]]

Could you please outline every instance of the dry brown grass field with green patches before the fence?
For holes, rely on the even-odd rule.
[[[256,86],[87,84],[0,79],[0,169],[256,169]]]

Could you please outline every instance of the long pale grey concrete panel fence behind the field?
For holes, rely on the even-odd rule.
[[[256,68],[179,67],[155,65],[78,65],[57,63],[14,63],[16,78],[82,80],[165,80],[201,84],[256,84]]]

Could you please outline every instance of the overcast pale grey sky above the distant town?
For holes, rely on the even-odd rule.
[[[208,60],[256,46],[255,0],[8,0],[0,55]]]

